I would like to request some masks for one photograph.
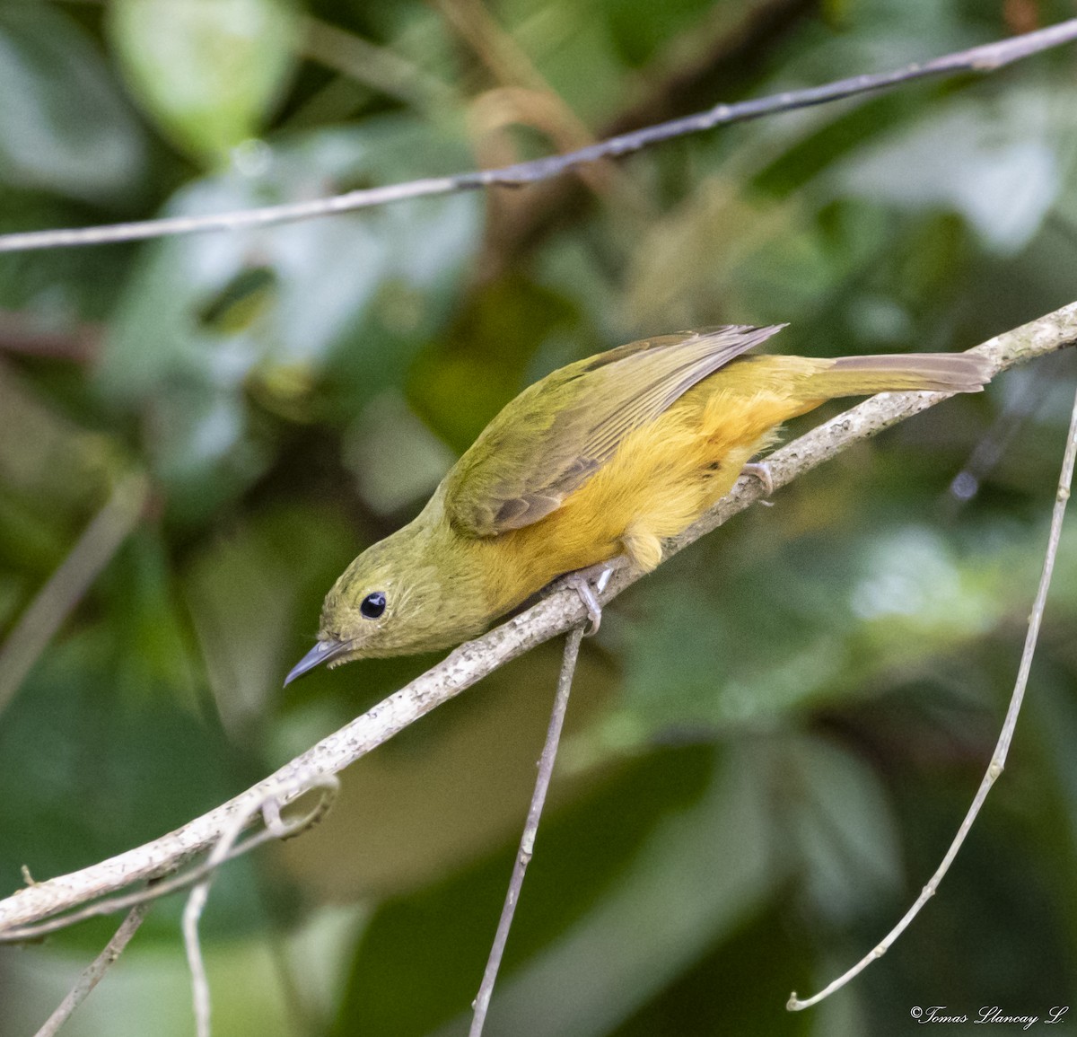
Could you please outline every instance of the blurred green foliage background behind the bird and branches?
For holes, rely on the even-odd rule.
[[[0,229],[500,165],[1074,14],[5,0]],[[281,688],[338,571],[526,384],[722,322],[788,321],[789,352],[967,348],[1077,298],[1075,161],[1069,47],[528,189],[0,257],[0,888],[182,824],[430,665]],[[1009,768],[941,893],[852,986],[783,1007],[896,921],[980,779],[1075,367],[844,453],[609,610],[489,1034],[885,1035],[917,1006],[1077,999],[1067,531]],[[351,768],[316,831],[221,875],[215,1033],[463,1032],[558,663],[546,646],[438,709]],[[193,1032],[179,910],[66,1033]],[[0,949],[0,1033],[33,1033],[114,925]]]

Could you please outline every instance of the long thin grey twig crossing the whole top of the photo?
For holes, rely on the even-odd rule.
[[[598,158],[616,158],[660,141],[702,133],[716,126],[746,122],[763,115],[772,115],[775,112],[824,105],[932,75],[945,75],[953,72],[993,72],[1012,61],[1051,47],[1061,46],[1075,39],[1077,39],[1077,18],[1069,18],[1025,36],[985,43],[981,46],[947,54],[929,61],[914,63],[889,72],[853,75],[823,86],[787,91],[737,105],[716,105],[708,111],[686,115],[682,119],[673,119],[654,126],[645,126],[643,129],[611,137],[568,154],[549,155],[545,158],[516,163],[500,169],[477,170],[459,174],[454,177],[411,180],[406,183],[350,191],[330,198],[266,206],[260,209],[244,209],[209,216],[165,217],[157,220],[81,229],[4,234],[0,235],[0,252],[104,245],[115,241],[140,241],[146,238],[193,234],[200,231],[238,231],[243,227],[267,226],[291,220],[351,212],[355,209],[388,205],[406,198],[429,197],[430,195],[449,194],[457,191],[475,191],[493,184],[522,186],[548,180],[568,169],[595,162]]]

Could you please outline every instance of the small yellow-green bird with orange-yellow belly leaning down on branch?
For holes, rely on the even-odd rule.
[[[285,683],[320,663],[459,644],[579,570],[597,625],[588,578],[658,565],[662,538],[728,493],[783,421],[835,397],[976,392],[990,377],[970,354],[744,356],[782,327],[646,338],[524,389],[419,515],[348,566]]]

